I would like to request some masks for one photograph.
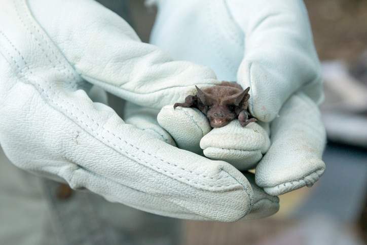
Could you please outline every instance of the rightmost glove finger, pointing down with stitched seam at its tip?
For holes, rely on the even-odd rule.
[[[270,195],[311,187],[323,174],[326,133],[316,104],[292,95],[271,124],[271,147],[256,166],[256,184]]]

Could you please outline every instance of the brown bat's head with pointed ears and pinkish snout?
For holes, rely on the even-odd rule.
[[[236,119],[236,109],[243,101],[246,91],[233,87],[213,86],[204,91],[196,87],[202,104],[201,111],[213,128],[223,127]]]

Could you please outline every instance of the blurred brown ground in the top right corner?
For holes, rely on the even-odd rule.
[[[367,50],[367,1],[305,0],[321,60],[352,64]]]

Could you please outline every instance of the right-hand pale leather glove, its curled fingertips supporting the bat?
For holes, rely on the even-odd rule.
[[[219,80],[249,86],[249,111],[258,122],[271,122],[269,148],[266,125],[263,130],[256,123],[241,128],[233,122],[210,131],[197,111],[168,106],[158,120],[176,144],[183,149],[200,144],[205,156],[240,169],[261,160],[256,184],[271,195],[312,186],[325,168],[325,130],[317,107],[323,96],[319,61],[303,2],[156,2],[151,42],[175,59],[208,65]],[[173,122],[204,133],[182,135]]]

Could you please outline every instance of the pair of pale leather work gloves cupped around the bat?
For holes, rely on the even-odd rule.
[[[90,0],[3,1],[6,155],[27,171],[159,215],[230,222],[276,213],[276,195],[311,186],[325,167],[320,69],[305,6],[156,4],[152,45]],[[258,122],[211,130],[196,110],[173,110],[195,85],[221,80],[250,86]],[[128,101],[124,121],[96,102],[105,97],[93,85]]]

